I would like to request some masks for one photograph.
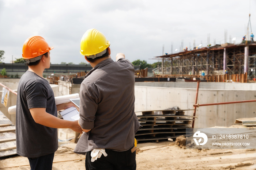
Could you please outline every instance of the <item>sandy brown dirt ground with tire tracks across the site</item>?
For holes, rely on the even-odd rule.
[[[231,128],[246,128],[232,126]],[[63,136],[63,135],[62,135]],[[65,136],[68,138],[68,136]],[[84,170],[85,156],[75,154],[74,139],[61,143],[55,153],[53,170]],[[138,143],[137,170],[256,170],[255,149],[185,149],[175,142]],[[27,158],[0,158],[0,170],[29,170]]]

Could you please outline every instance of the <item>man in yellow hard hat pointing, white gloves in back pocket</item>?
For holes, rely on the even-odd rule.
[[[80,86],[79,124],[85,132],[74,152],[86,155],[86,169],[136,169],[135,70],[123,53],[110,57],[110,42],[87,30],[80,53],[93,69]]]

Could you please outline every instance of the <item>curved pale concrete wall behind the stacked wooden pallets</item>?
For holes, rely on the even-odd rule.
[[[159,87],[161,85],[167,87]],[[194,109],[196,85],[197,82],[136,83],[135,111],[168,109],[174,106],[180,109]],[[177,86],[182,88],[175,88]],[[200,82],[197,103],[256,100],[255,89],[255,83]],[[193,115],[193,111],[186,111],[185,114]],[[196,109],[196,116],[195,128],[231,126],[238,118],[256,117],[256,105],[255,102],[251,102],[203,106]]]

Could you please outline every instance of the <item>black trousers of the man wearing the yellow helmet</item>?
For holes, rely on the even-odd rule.
[[[86,170],[136,170],[136,151],[118,152],[105,149],[108,156],[102,154],[100,158],[91,162],[91,151],[86,152]],[[133,152],[132,152],[133,151]]]

